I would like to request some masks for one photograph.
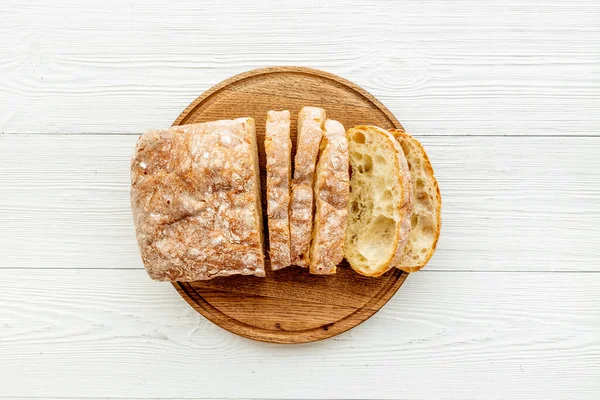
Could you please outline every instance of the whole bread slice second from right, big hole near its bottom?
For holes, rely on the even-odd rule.
[[[397,265],[410,233],[412,188],[406,158],[394,137],[376,126],[348,131],[350,197],[344,256],[366,276]]]

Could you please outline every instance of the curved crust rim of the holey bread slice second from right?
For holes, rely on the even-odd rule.
[[[410,218],[413,206],[411,177],[402,148],[391,133],[377,126],[359,125],[348,130],[347,136],[350,138],[357,131],[366,131],[370,134],[379,135],[387,141],[391,148],[394,149],[394,154],[396,155],[396,157],[393,160],[395,164],[394,169],[398,171],[397,184],[398,187],[401,189],[400,191],[402,194],[401,200],[397,204],[399,219],[396,221],[396,224],[394,226],[395,230],[392,245],[393,251],[391,252],[390,257],[384,262],[382,262],[379,269],[375,271],[362,270],[353,262],[352,259],[346,257],[346,259],[348,259],[348,262],[350,263],[350,266],[359,274],[377,277],[383,275],[384,273],[389,271],[394,265],[396,265],[396,263],[402,256],[404,247],[408,243],[408,236],[410,234],[411,229]],[[346,243],[346,245],[348,244]]]

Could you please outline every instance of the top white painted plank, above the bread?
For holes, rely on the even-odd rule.
[[[0,3],[0,132],[141,132],[268,65],[348,78],[419,135],[594,135],[600,2]]]

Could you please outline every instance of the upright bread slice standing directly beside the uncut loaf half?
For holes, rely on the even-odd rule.
[[[267,217],[271,269],[291,265],[290,181],[292,176],[290,112],[267,112],[265,153],[267,155]]]

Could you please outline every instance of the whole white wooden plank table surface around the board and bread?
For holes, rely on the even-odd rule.
[[[600,2],[0,3],[0,398],[600,398]],[[152,282],[138,134],[269,65],[429,151],[439,250],[334,339],[234,336]]]

